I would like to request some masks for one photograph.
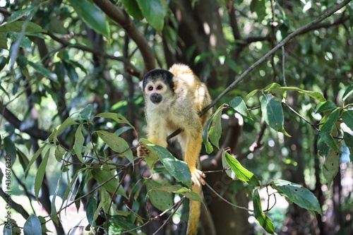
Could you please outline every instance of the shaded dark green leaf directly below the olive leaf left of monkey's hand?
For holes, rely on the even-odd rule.
[[[114,193],[116,191],[116,187],[119,186],[119,179],[114,177],[114,171],[109,169],[92,169],[93,178],[100,184],[104,183],[104,188],[109,193]],[[114,178],[113,178],[114,177]],[[127,198],[126,192],[122,186],[119,186],[116,194],[123,195]]]

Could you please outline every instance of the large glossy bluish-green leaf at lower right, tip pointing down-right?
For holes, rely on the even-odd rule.
[[[307,188],[304,188],[297,183],[292,183],[282,179],[275,180],[270,185],[275,188],[278,193],[285,195],[285,197],[293,203],[303,207],[306,210],[316,211],[323,216],[321,207],[318,204],[318,199]]]

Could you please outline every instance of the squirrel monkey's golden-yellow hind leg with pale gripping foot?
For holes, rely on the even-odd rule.
[[[198,157],[200,157],[201,147],[202,135],[199,134],[196,138],[189,135],[189,139],[186,141],[184,160],[190,169],[191,181],[199,187],[201,186],[200,181],[203,183],[202,178],[205,178],[205,174],[196,167],[196,162],[199,162]]]

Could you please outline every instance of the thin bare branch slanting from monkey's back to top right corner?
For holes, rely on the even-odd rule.
[[[241,76],[239,76],[236,80],[234,80],[234,82],[230,84],[222,93],[220,93],[220,95],[218,95],[218,97],[215,98],[215,100],[213,100],[211,104],[209,104],[207,107],[205,107],[205,109],[203,109],[203,112],[201,112],[201,115],[205,114],[208,111],[208,109],[213,107],[222,97],[224,97],[230,90],[232,90],[235,87],[235,85],[237,85],[241,80],[245,78],[245,76],[247,76],[251,71],[253,71],[254,68],[256,68],[258,65],[266,61],[266,59],[268,59],[268,57],[274,54],[277,51],[277,49],[280,49],[281,47],[285,46],[285,44],[287,44],[290,40],[292,40],[292,38],[296,37],[297,35],[301,35],[304,32],[311,30],[311,28],[313,28],[315,25],[325,20],[325,18],[328,18],[329,16],[333,15],[333,13],[340,10],[340,8],[346,6],[350,1],[352,0],[342,1],[340,4],[337,4],[337,6],[326,11],[325,13],[323,13],[323,15],[319,16],[315,20],[311,21],[310,23],[302,26],[297,30],[294,30],[294,32],[289,34],[287,37],[285,37],[284,40],[282,40],[279,44],[273,47],[273,49],[271,49],[270,52],[262,56],[261,59],[258,59],[258,61],[256,61],[253,65],[247,68],[246,71],[244,71],[244,73],[241,73]]]

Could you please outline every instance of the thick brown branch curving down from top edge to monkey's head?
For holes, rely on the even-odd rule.
[[[145,62],[145,69],[147,71],[155,68],[155,56],[152,54],[152,50],[148,45],[145,37],[138,31],[138,29],[133,24],[128,13],[121,9],[109,0],[93,0],[95,4],[104,11],[112,20],[116,23],[119,23],[122,28],[127,32],[127,34],[131,37],[131,39],[136,43],[138,49],[143,56],[143,61]]]

